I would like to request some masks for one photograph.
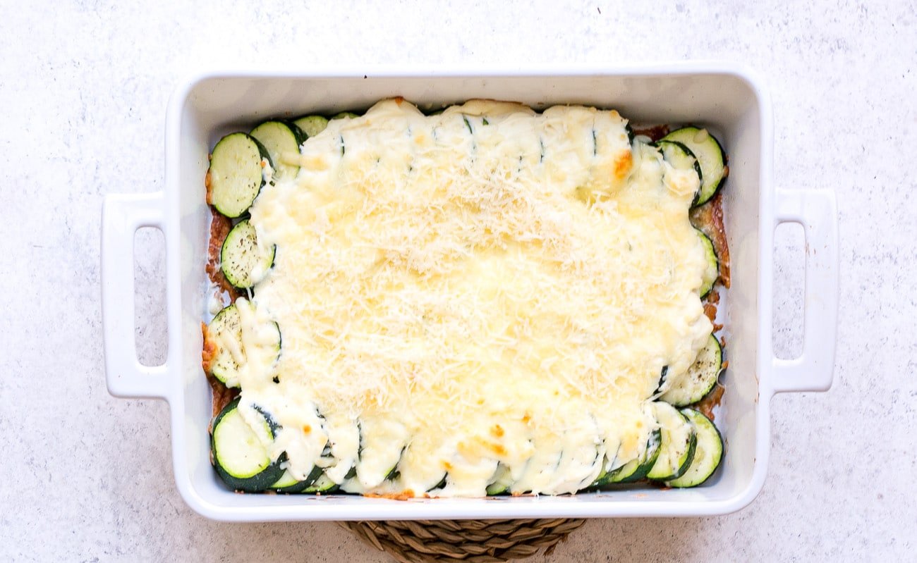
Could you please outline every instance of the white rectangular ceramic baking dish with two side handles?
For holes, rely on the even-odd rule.
[[[495,98],[545,107],[584,103],[618,109],[637,123],[699,123],[730,156],[724,196],[733,287],[726,323],[729,370],[717,418],[726,454],[712,482],[687,490],[635,488],[564,497],[393,501],[354,496],[235,494],[209,460],[210,389],[201,371],[206,309],[204,205],[207,152],[215,141],[273,115],[332,114],[402,95],[425,104]],[[832,382],[837,315],[834,193],[776,189],[768,94],[747,70],[723,64],[612,69],[340,70],[208,73],[173,94],[166,128],[165,189],[109,195],[102,224],[105,369],[113,395],[159,397],[171,406],[175,480],[185,501],[230,521],[676,516],[724,514],[750,503],[768,467],[769,404],[783,391],[824,391]],[[772,237],[780,222],[806,236],[804,352],[779,360],[771,350]],[[156,227],[166,241],[166,363],[145,367],[134,346],[133,240]],[[157,439],[156,437],[147,437]]]

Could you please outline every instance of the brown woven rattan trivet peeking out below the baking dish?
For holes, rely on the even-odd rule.
[[[551,553],[585,520],[390,520],[341,522],[401,563],[502,563]]]

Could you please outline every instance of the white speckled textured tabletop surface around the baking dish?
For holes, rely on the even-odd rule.
[[[184,74],[258,61],[687,59],[759,70],[774,101],[777,184],[837,193],[834,389],[775,398],[768,482],[746,510],[592,521],[550,559],[913,557],[913,2],[41,4],[0,0],[0,560],[388,560],[336,525],[226,525],[193,514],[172,478],[168,406],[105,390],[102,197],[161,189],[165,104]],[[800,349],[797,235],[777,236],[778,286],[796,288],[775,296],[782,355]],[[160,236],[138,236],[138,250],[138,349],[159,363]]]

